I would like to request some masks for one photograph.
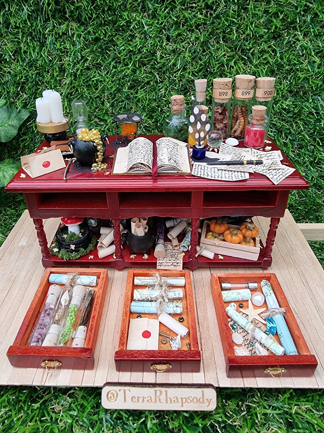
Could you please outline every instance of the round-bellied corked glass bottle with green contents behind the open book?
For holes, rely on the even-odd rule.
[[[186,108],[183,95],[173,95],[171,97],[171,114],[163,124],[163,134],[165,137],[172,137],[177,140],[185,141],[188,136],[189,120],[185,117]]]

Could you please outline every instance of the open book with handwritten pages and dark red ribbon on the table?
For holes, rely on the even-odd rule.
[[[158,173],[190,173],[186,143],[162,137],[156,141]],[[152,173],[153,143],[138,137],[127,147],[117,150],[112,174]]]

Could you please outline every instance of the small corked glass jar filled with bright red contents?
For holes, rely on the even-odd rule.
[[[252,114],[249,116],[249,124],[246,126],[244,144],[253,149],[261,149],[267,128],[267,107],[254,105]]]

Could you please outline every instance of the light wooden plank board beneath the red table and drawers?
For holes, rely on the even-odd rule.
[[[265,242],[269,220],[255,219],[260,237]],[[44,226],[51,240],[58,219],[46,220]],[[153,269],[152,269],[153,270]],[[296,320],[305,336],[311,353],[318,359],[318,368],[311,378],[292,378],[289,372],[279,379],[272,377],[247,378],[238,374],[227,378],[225,359],[218,332],[216,313],[210,291],[211,272],[253,272],[260,268],[198,268],[191,272],[194,290],[198,339],[202,350],[200,372],[181,365],[181,372],[156,373],[147,365],[129,372],[118,372],[114,352],[118,348],[127,269],[108,268],[109,283],[95,349],[93,370],[60,370],[47,373],[44,368],[14,368],[6,351],[22,323],[38,283],[44,273],[36,230],[25,211],[0,249],[0,385],[98,386],[105,382],[213,384],[220,387],[253,388],[324,388],[324,271],[292,216],[286,211],[277,230],[273,248],[274,272],[286,294]]]

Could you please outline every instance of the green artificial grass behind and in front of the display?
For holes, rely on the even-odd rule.
[[[289,210],[298,222],[323,222],[323,21],[321,1],[0,1],[0,96],[32,111],[18,136],[0,145],[0,159],[39,144],[35,99],[45,87],[61,93],[70,116],[72,100],[84,99],[90,125],[102,132],[113,132],[114,113],[134,110],[143,114],[142,133],[159,133],[171,95],[189,103],[196,78],[208,79],[211,98],[213,78],[274,76],[270,135],[311,184],[291,194]],[[19,195],[6,200],[0,240],[25,208]],[[312,247],[323,258],[321,244]],[[221,390],[213,414],[108,412],[98,396],[3,388],[0,429],[324,432],[321,391]]]

